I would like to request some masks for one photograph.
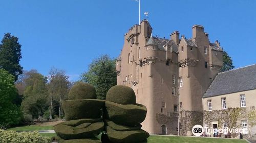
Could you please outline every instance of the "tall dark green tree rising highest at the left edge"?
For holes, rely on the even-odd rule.
[[[18,75],[22,74],[23,67],[19,60],[22,58],[21,47],[18,38],[6,33],[2,44],[0,44],[0,68],[5,69],[14,76],[15,81]]]

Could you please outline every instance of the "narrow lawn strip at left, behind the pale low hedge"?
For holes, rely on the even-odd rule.
[[[36,126],[36,125],[30,125],[30,126],[23,126],[23,127],[10,128],[10,129],[7,129],[7,130],[14,130],[14,131],[53,130],[53,126]]]

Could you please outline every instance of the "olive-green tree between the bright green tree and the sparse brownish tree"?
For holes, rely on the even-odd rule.
[[[33,69],[26,75],[22,109],[25,113],[32,115],[32,118],[37,118],[38,115],[43,115],[49,106],[46,90],[47,77]]]

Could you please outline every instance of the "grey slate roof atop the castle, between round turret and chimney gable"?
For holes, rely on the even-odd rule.
[[[178,46],[174,43],[174,41],[168,39],[151,36],[146,42],[146,45],[157,45],[160,51],[166,51],[167,49],[165,49],[163,45],[169,45],[171,46],[173,52],[178,52]]]

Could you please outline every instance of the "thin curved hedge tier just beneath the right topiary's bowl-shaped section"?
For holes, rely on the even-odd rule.
[[[115,124],[114,122],[109,121],[109,120],[105,120],[105,123],[106,123],[106,125],[108,125],[113,130],[116,130],[116,131],[132,131],[132,130],[141,129],[141,127],[142,127],[141,125],[138,125],[138,126],[135,126],[135,127],[118,125],[118,124]]]

